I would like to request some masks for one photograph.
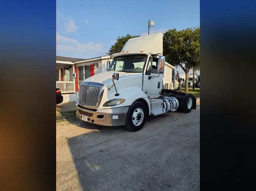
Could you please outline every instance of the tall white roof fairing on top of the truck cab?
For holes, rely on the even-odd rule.
[[[161,32],[129,39],[121,52],[145,51],[151,54],[163,54],[163,34]]]

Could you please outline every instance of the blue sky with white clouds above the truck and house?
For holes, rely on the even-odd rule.
[[[118,36],[147,35],[200,26],[199,0],[58,0],[57,55],[89,59],[107,55]],[[184,71],[179,68],[179,72]]]

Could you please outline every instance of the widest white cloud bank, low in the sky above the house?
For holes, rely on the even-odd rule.
[[[63,37],[56,33],[56,48],[61,51],[69,52],[102,52],[105,43],[79,43],[78,40]]]

